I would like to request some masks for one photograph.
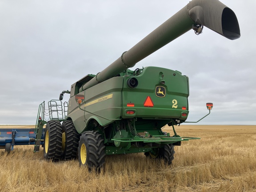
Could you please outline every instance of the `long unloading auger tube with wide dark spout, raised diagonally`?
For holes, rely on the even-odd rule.
[[[240,37],[236,15],[230,8],[218,0],[192,0],[138,44],[124,52],[92,80],[84,84],[80,88],[80,92],[133,67],[137,62],[188,32],[191,28],[199,34],[203,26],[230,40]]]

